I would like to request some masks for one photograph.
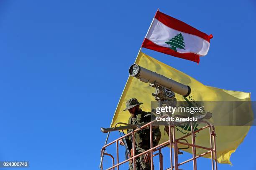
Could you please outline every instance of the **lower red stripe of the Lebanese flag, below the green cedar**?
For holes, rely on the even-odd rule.
[[[179,52],[176,52],[174,50],[171,50],[170,48],[162,47],[160,45],[156,45],[154,42],[148,40],[147,38],[144,39],[141,47],[148,48],[150,50],[155,50],[155,51],[158,51],[158,52],[162,52],[162,53],[165,53],[165,54],[168,54],[168,55],[172,55],[174,57],[179,57],[179,58],[183,58],[183,59],[186,59],[186,60],[191,60],[191,61],[197,62],[198,64],[200,62],[200,57],[197,54],[194,54],[194,53],[179,53]]]

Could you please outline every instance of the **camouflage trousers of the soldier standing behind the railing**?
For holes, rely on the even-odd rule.
[[[145,152],[145,149],[136,150],[136,155]],[[135,170],[151,170],[151,162],[148,161],[147,163],[144,162],[144,155],[136,158],[136,169]],[[129,170],[133,170],[132,162],[129,161]],[[154,168],[152,169],[154,170]]]

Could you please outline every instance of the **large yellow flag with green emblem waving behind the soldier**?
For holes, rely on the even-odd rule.
[[[195,80],[189,75],[180,72],[179,70],[170,67],[146,54],[140,52],[137,59],[136,64],[140,65],[151,71],[156,71],[158,74],[164,75],[165,77],[172,78],[173,80],[180,82],[184,85],[189,85],[191,87],[190,100],[196,101],[250,101],[250,93],[248,92],[238,92],[238,91],[230,91],[223,90],[215,87],[209,87],[203,85],[201,82]],[[128,71],[127,71],[128,72]],[[115,125],[117,122],[128,122],[130,114],[128,111],[123,111],[125,108],[126,100],[130,98],[137,98],[139,102],[143,102],[141,105],[142,110],[151,111],[151,101],[154,101],[154,97],[152,96],[154,93],[154,88],[148,86],[147,83],[141,82],[135,77],[129,77],[125,88],[123,90],[123,94],[120,97],[120,101],[115,111],[115,115],[113,117],[111,127]],[[175,97],[179,101],[183,101],[184,97],[175,94]],[[188,98],[189,99],[189,98]],[[211,110],[212,114],[223,114],[219,112],[218,108],[213,108]],[[205,125],[202,125],[205,126]],[[199,126],[199,128],[201,128]],[[161,126],[162,137],[160,143],[168,140],[168,135],[164,135],[164,127]],[[250,126],[215,126],[215,132],[217,135],[216,138],[216,147],[217,147],[217,160],[219,163],[229,163],[230,155],[236,151],[236,148],[239,144],[242,143]],[[177,131],[177,138],[182,137],[184,134]],[[190,137],[191,138],[191,137]],[[191,139],[189,138],[189,143],[191,143]],[[209,140],[209,131],[202,130],[198,133],[196,138],[196,144],[209,147],[210,148],[210,140]],[[180,146],[180,147],[184,147]],[[189,153],[192,153],[192,149],[189,148],[185,150]],[[205,150],[197,148],[197,155],[201,153],[205,153]],[[210,154],[205,155],[204,157],[210,158]]]

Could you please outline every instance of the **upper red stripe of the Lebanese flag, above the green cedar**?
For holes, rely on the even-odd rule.
[[[160,11],[157,11],[155,18],[169,28],[173,28],[174,30],[178,30],[188,34],[197,35],[198,37],[201,37],[207,40],[208,42],[210,42],[210,39],[213,37],[212,35],[207,35],[204,32],[201,32],[200,30],[197,30],[194,27],[180,20],[172,18],[164,13],[161,13]]]

